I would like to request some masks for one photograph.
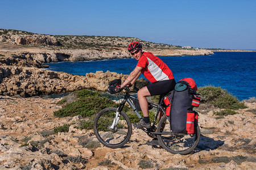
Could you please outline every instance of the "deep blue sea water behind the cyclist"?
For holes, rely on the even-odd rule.
[[[256,52],[214,52],[211,56],[159,58],[170,67],[176,82],[189,77],[195,79],[197,87],[208,85],[221,87],[239,100],[256,96]],[[130,74],[137,65],[137,61],[126,58],[46,64],[49,65],[48,70],[77,75],[96,73],[100,70]]]

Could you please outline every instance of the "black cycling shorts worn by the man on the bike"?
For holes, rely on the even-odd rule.
[[[174,90],[176,85],[175,79],[163,80],[160,82],[155,82],[147,86],[148,91],[151,96],[163,95]]]

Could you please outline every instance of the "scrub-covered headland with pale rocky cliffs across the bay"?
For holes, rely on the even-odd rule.
[[[156,56],[208,56],[208,49],[182,48],[157,44],[134,37],[40,35],[13,29],[0,29],[0,57],[30,54],[40,62],[93,61],[130,58],[127,46],[139,41],[143,50]]]

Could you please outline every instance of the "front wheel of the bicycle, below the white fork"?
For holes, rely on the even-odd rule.
[[[105,108],[97,113],[93,130],[98,141],[110,148],[122,147],[131,137],[131,121],[125,112],[119,113],[119,121],[115,121],[117,108]]]

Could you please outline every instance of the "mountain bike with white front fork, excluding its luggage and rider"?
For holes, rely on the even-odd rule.
[[[122,147],[131,137],[131,120],[127,114],[123,112],[123,107],[126,103],[130,105],[137,117],[142,120],[141,114],[139,114],[138,109],[134,105],[136,101],[138,102],[138,98],[130,95],[129,87],[125,87],[123,91],[125,91],[123,94],[123,100],[119,104],[118,108],[105,108],[98,112],[94,118],[94,134],[98,141],[109,148]],[[142,128],[147,135],[150,137],[157,137],[160,146],[172,154],[185,155],[195,149],[200,140],[200,129],[196,121],[194,124],[195,134],[173,133],[171,131],[171,116],[167,117],[165,114],[166,111],[164,109],[163,97],[160,97],[158,104],[148,102],[148,107],[156,108],[157,111],[151,128]],[[164,113],[164,116],[160,118],[156,127],[158,114],[161,111]]]

